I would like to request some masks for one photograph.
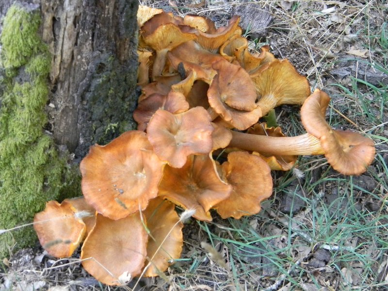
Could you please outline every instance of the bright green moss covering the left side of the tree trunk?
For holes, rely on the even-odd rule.
[[[79,175],[44,132],[50,56],[38,36],[40,15],[12,6],[4,18],[0,88],[0,229],[32,222],[45,202],[81,193]],[[0,258],[35,242],[32,227],[0,235]]]

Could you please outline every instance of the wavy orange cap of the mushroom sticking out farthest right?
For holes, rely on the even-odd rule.
[[[329,102],[330,97],[316,89],[302,106],[303,126],[320,140],[327,162],[336,171],[360,175],[373,162],[374,142],[356,132],[331,129],[324,118]]]

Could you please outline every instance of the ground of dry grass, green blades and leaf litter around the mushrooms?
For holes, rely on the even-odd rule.
[[[226,23],[234,7],[244,5],[214,0],[194,7],[197,3],[143,1],[182,16],[204,15],[217,25]],[[276,57],[289,58],[307,76],[312,89],[326,91],[332,97],[330,124],[373,138],[375,161],[360,177],[339,175],[322,157],[299,159],[297,169],[304,177],[298,171],[274,172],[274,194],[258,215],[189,222],[181,259],[164,276],[142,279],[137,290],[388,290],[388,4],[256,3],[268,10],[273,22],[265,39],[251,39],[251,48],[269,44]],[[297,107],[281,106],[276,115],[288,135],[304,131]],[[30,281],[44,281],[46,287],[70,288],[76,283],[69,280],[91,280],[79,262],[58,264],[64,262],[70,264],[42,273],[38,266],[53,263],[44,259],[30,266],[34,270],[11,268],[8,274],[21,281],[32,276]],[[77,288],[110,290],[92,281]]]

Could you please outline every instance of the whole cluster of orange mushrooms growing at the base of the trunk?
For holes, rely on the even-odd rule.
[[[252,54],[239,17],[216,29],[140,6],[138,130],[92,146],[81,162],[83,197],[47,203],[35,230],[50,255],[71,256],[120,285],[164,272],[182,250],[175,205],[202,221],[256,214],[272,194],[271,169],[290,170],[298,155],[324,154],[345,175],[374,159],[374,143],[325,121],[330,97],[288,60],[262,47]],[[280,104],[303,104],[306,134],[285,137],[259,119]],[[225,162],[213,157],[227,153]]]

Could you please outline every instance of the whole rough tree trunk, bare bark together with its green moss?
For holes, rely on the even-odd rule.
[[[0,0],[0,32],[6,27],[3,16],[15,3]],[[137,0],[17,3],[20,11],[27,11],[28,16],[23,17],[31,13],[33,19],[40,15],[41,20],[39,28],[32,29],[34,35],[39,34],[31,38],[33,43],[21,37],[30,22],[16,20],[15,39],[22,49],[18,51],[12,37],[4,48],[0,44],[0,168],[7,172],[0,173],[0,229],[31,222],[46,200],[69,195],[65,185],[76,184],[72,189],[79,190],[74,171],[69,172],[70,164],[81,160],[89,146],[106,144],[135,128]],[[13,62],[6,60],[5,47],[12,52]],[[42,105],[34,98],[43,100]],[[28,130],[34,133],[30,139],[23,134],[30,132],[27,124],[24,129],[21,122],[31,116],[25,110],[31,106],[23,105],[28,102],[40,118],[38,122],[26,118]],[[66,149],[76,159],[68,159]],[[16,162],[15,155],[20,155]],[[14,243],[23,247],[33,241],[31,227],[0,234],[0,257],[6,256],[7,247]]]

